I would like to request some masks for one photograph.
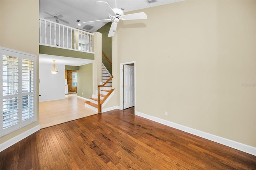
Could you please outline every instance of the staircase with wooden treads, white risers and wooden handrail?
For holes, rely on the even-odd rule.
[[[106,67],[102,64],[102,83],[106,83],[108,79],[110,79],[112,75],[107,71]],[[112,89],[112,79],[108,81],[103,87],[100,88],[100,111],[98,109],[98,90],[96,91],[96,95],[92,95],[90,101],[84,102],[84,105],[98,113],[101,113],[101,108],[107,103],[106,100],[110,99],[110,95],[112,95],[114,89]]]

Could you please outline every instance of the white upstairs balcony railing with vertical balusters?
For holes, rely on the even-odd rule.
[[[40,45],[94,53],[93,34],[49,20],[39,19]]]

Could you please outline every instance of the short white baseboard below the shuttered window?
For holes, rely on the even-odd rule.
[[[40,125],[37,125],[36,127],[33,127],[26,132],[23,132],[22,134],[19,134],[18,136],[15,136],[14,138],[11,138],[10,140],[7,140],[6,142],[0,144],[0,152],[5,150],[6,148],[9,148],[10,146],[16,144],[20,140],[28,137],[29,135],[33,134],[34,132],[37,132],[40,130]]]

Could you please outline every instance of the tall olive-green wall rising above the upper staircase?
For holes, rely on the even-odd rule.
[[[108,59],[112,62],[112,38],[108,37],[108,32],[111,26],[111,22],[104,25],[102,28],[97,30],[102,34],[102,51],[108,57]],[[109,73],[112,75],[112,66],[108,63],[106,58],[102,55],[102,63],[108,69]]]

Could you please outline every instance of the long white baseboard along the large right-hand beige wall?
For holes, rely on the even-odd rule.
[[[249,146],[249,145],[246,145],[246,144],[242,144],[242,143],[239,143],[239,142],[236,142],[236,141],[233,141],[233,140],[229,140],[229,139],[226,139],[226,138],[222,138],[220,136],[216,136],[216,135],[209,134],[209,133],[206,133],[206,132],[202,132],[200,130],[196,130],[196,129],[193,129],[193,128],[190,128],[190,127],[185,127],[183,125],[179,125],[177,123],[166,121],[164,119],[160,119],[160,118],[157,118],[157,117],[146,115],[146,114],[140,113],[138,111],[135,111],[135,115],[146,118],[146,119],[149,119],[149,120],[157,122],[157,123],[161,123],[161,124],[169,126],[169,127],[173,127],[173,128],[182,130],[184,132],[188,132],[190,134],[194,134],[196,136],[199,136],[199,137],[202,137],[202,138],[217,142],[219,144],[223,144],[225,146],[229,146],[231,148],[241,150],[242,152],[246,152],[248,154],[252,154],[252,155],[256,156],[256,147]]]

